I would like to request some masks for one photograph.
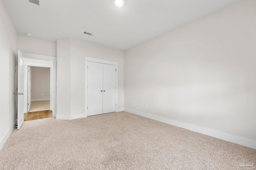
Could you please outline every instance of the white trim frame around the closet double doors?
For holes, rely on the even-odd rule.
[[[94,63],[102,63],[102,64],[110,64],[116,66],[116,111],[118,110],[118,62],[115,61],[108,61],[108,60],[102,60],[102,59],[96,59],[91,57],[84,57],[85,60],[85,78],[84,78],[84,113],[85,117],[88,115],[88,103],[87,103],[87,86],[88,86],[88,80],[87,80],[87,73],[88,73],[88,62],[94,62]]]

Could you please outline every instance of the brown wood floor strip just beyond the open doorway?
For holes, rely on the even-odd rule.
[[[36,120],[36,119],[44,119],[52,117],[52,110],[44,110],[44,111],[34,111],[24,113],[24,121]]]

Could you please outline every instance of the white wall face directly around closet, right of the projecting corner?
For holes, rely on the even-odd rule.
[[[84,113],[84,57],[118,62],[118,108],[124,108],[124,52],[71,39],[71,115]]]

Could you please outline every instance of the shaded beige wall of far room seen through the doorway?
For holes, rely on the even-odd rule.
[[[32,101],[50,100],[50,68],[31,67],[31,87]]]

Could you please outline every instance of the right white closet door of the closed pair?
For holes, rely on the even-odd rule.
[[[116,111],[116,66],[103,64],[103,113]]]

